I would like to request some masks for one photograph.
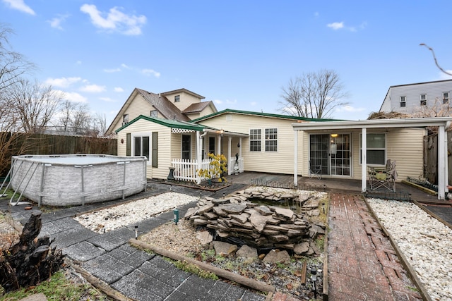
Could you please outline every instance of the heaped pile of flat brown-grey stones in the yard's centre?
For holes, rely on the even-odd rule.
[[[249,202],[249,198],[270,198],[276,202],[295,202],[296,199],[299,202],[298,197],[269,192],[238,192],[225,199],[205,197],[198,201],[197,207],[189,209],[184,218],[193,226],[215,230],[221,238],[239,238],[252,247],[319,254],[311,241],[319,233],[324,234],[323,225],[311,225],[302,214],[295,214],[291,209]]]

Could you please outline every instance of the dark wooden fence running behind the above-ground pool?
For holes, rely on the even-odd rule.
[[[6,176],[11,156],[21,154],[112,154],[117,140],[111,138],[0,132],[0,176]]]

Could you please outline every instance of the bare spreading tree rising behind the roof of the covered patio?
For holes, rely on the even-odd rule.
[[[280,111],[293,116],[328,118],[333,109],[347,105],[343,99],[348,94],[334,70],[319,70],[290,79],[282,90]]]

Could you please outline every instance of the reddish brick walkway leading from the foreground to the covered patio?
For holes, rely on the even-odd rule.
[[[331,193],[328,300],[422,300],[359,195]]]

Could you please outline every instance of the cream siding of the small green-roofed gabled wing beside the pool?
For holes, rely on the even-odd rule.
[[[171,154],[168,152],[167,147],[171,147],[172,136],[171,128],[167,128],[164,125],[159,125],[157,123],[152,123],[149,121],[138,120],[135,123],[127,126],[117,133],[118,137],[118,156],[126,156],[126,134],[131,133],[132,139],[131,143],[133,144],[133,136],[143,136],[148,135],[150,137],[150,141],[152,141],[152,133],[158,133],[158,149],[157,149],[157,157],[158,157],[158,167],[152,167],[152,159],[149,159],[146,166],[146,177],[147,178],[166,178],[169,173],[168,167],[171,166]],[[121,143],[121,139],[124,139],[124,143]],[[152,143],[152,142],[150,142]],[[133,147],[132,147],[133,149]],[[152,148],[150,147],[150,150]],[[133,151],[132,151],[133,154]],[[152,152],[150,152],[150,155]]]

